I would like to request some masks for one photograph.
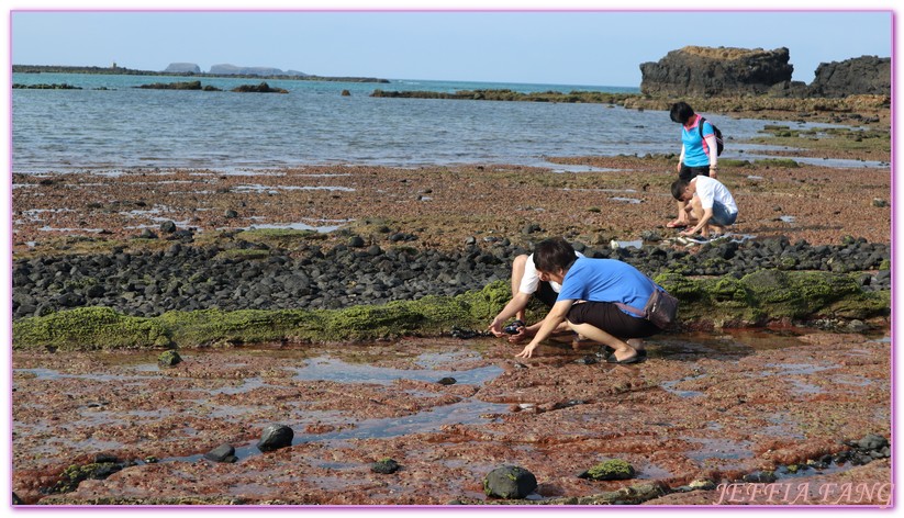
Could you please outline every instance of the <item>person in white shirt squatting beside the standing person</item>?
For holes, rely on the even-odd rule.
[[[693,228],[681,233],[682,236],[692,236],[697,232],[703,237],[710,237],[711,227],[733,225],[738,217],[738,205],[735,198],[721,181],[697,176],[691,180],[676,180],[672,183],[672,196],[679,202],[685,202],[690,214],[696,218]]]

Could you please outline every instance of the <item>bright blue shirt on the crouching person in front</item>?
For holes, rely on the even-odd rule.
[[[627,262],[584,257],[568,270],[557,301],[621,302],[643,311],[652,286],[647,275]]]

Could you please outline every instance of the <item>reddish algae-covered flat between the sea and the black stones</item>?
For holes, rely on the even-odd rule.
[[[416,235],[412,246],[459,248],[469,237],[523,239],[525,225],[590,245],[638,239],[644,230],[671,235],[669,185],[674,161],[587,157],[557,161],[600,170],[555,172],[523,166],[317,166],[231,174],[212,170],[131,170],[13,176],[14,251],[58,251],[63,239],[126,240],[159,233],[161,223],[193,229],[196,238],[222,230],[349,227],[390,245],[393,232]],[[857,182],[847,178],[856,176]],[[740,206],[733,232],[788,236],[793,243],[837,244],[845,235],[888,243],[888,168],[725,167],[719,180]],[[873,200],[884,204],[873,204]],[[467,200],[468,210],[461,211]],[[328,239],[334,239],[330,237]],[[147,243],[150,241],[150,243]],[[332,243],[332,241],[330,241]],[[72,244],[65,245],[76,249]]]

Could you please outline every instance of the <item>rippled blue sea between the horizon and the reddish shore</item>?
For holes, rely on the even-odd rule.
[[[13,83],[67,83],[81,90],[12,92],[14,172],[88,168],[274,168],[354,164],[548,165],[550,156],[680,151],[667,112],[605,104],[371,98],[376,89],[511,89],[637,92],[620,87],[392,80],[389,83],[267,80],[288,94],[234,93],[248,78],[200,78],[221,92],[146,90],[191,77],[13,74]],[[350,95],[342,95],[348,90]],[[715,122],[726,157],[756,154],[732,145],[768,121]],[[788,123],[782,123],[788,124]],[[797,124],[807,126],[807,124]],[[743,155],[746,153],[747,155]]]

